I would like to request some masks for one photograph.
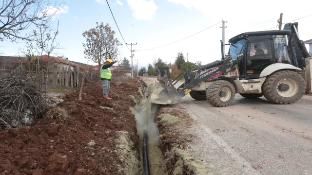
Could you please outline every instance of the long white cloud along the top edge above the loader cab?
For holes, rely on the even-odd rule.
[[[283,12],[280,2],[274,0],[262,0],[259,3],[252,3],[250,0],[216,0],[213,3],[210,0],[168,0],[168,2],[183,5],[207,17],[217,17],[215,18],[217,20],[223,18],[251,23],[257,21],[265,24],[272,19],[276,19],[277,23],[279,13]],[[278,15],[275,16],[275,13]]]

